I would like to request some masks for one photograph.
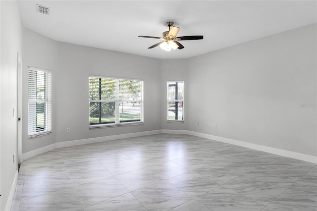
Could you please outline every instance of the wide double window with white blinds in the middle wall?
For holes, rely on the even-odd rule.
[[[143,122],[143,81],[89,76],[90,127]]]

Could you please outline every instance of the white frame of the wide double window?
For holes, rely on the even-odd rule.
[[[90,100],[89,99],[89,78],[106,78],[106,79],[114,79],[115,80],[115,100],[111,100],[111,101],[103,101],[103,100],[98,100],[98,101],[94,101],[94,100]],[[134,81],[141,81],[141,99],[138,100],[140,101],[140,121],[130,121],[130,122],[120,122],[120,109],[119,109],[119,103],[120,103],[120,99],[119,99],[119,80],[134,80]],[[105,124],[90,124],[90,120],[89,120],[89,104],[88,104],[88,125],[90,129],[95,129],[95,128],[104,128],[104,127],[116,127],[116,126],[128,126],[128,125],[140,125],[140,124],[144,124],[144,81],[142,79],[136,79],[136,78],[119,78],[119,77],[107,77],[107,76],[98,76],[98,75],[89,75],[88,77],[88,101],[89,104],[90,102],[115,102],[115,120],[114,123],[105,123]]]

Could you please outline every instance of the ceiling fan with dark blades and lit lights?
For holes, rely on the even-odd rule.
[[[168,31],[163,32],[163,37],[152,37],[152,36],[138,36],[138,37],[154,38],[154,39],[162,40],[161,42],[149,47],[149,49],[153,49],[154,47],[160,46],[165,51],[171,51],[172,49],[173,50],[183,49],[184,46],[178,42],[181,40],[202,40],[202,39],[204,39],[203,35],[176,37],[177,33],[179,31],[179,27],[173,26],[174,23],[171,21],[166,22],[165,24],[168,27]]]

